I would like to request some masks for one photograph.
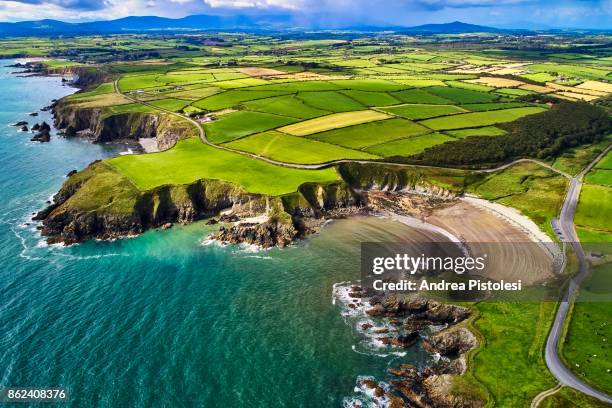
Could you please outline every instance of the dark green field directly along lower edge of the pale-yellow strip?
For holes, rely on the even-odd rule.
[[[405,119],[387,119],[349,126],[309,136],[323,142],[353,149],[388,142],[402,137],[429,133],[430,130]]]

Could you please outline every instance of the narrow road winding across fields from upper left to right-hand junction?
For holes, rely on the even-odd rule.
[[[236,154],[241,154],[243,156],[249,156],[258,160],[263,160],[265,162],[268,162],[270,164],[274,164],[277,166],[283,166],[283,167],[290,167],[290,168],[294,168],[294,169],[304,169],[304,170],[321,170],[321,169],[326,169],[329,167],[333,167],[333,166],[337,166],[338,164],[342,164],[342,163],[359,163],[359,164],[367,164],[367,163],[378,163],[378,164],[384,164],[387,166],[396,166],[396,167],[417,167],[417,168],[428,168],[428,169],[441,169],[441,170],[455,170],[453,168],[448,168],[448,167],[440,167],[440,166],[426,166],[426,165],[418,165],[418,164],[403,164],[403,163],[390,163],[390,162],[381,162],[381,161],[374,161],[374,160],[334,160],[334,161],[330,161],[330,162],[326,162],[326,163],[320,163],[320,164],[296,164],[296,163],[287,163],[287,162],[282,162],[282,161],[278,161],[278,160],[273,160],[270,159],[269,157],[264,157],[258,154],[254,154],[254,153],[249,153],[249,152],[244,152],[241,150],[236,150],[236,149],[232,149],[229,148],[227,146],[223,146],[223,145],[218,145],[215,144],[213,142],[211,142],[210,140],[208,140],[208,138],[206,137],[206,132],[204,131],[204,128],[201,126],[200,123],[198,123],[197,121],[193,120],[192,118],[190,118],[189,116],[185,116],[182,115],[180,113],[177,112],[173,112],[171,110],[168,109],[164,109],[164,108],[160,108],[159,106],[155,106],[152,105],[146,101],[141,101],[137,98],[133,98],[130,95],[124,94],[123,92],[121,92],[121,90],[119,89],[119,80],[115,81],[115,92],[118,93],[119,95],[123,96],[124,98],[135,102],[135,103],[139,103],[142,105],[146,105],[149,106],[155,110],[159,110],[162,111],[164,113],[185,119],[189,122],[191,122],[191,124],[193,124],[196,129],[198,130],[198,134],[200,137],[200,140],[202,141],[202,143],[205,143],[209,146],[212,147],[216,147],[217,149],[221,149],[221,150],[225,150],[228,152],[232,152],[232,153],[236,153]],[[539,160],[533,160],[533,159],[519,159],[519,160],[515,160],[513,162],[504,164],[503,166],[499,166],[499,167],[495,167],[495,168],[491,168],[491,169],[478,169],[478,170],[470,170],[473,172],[477,172],[477,173],[493,173],[495,171],[498,170],[503,170],[505,168],[508,168],[510,166],[513,166],[517,163],[536,163],[540,166],[546,167],[552,171],[554,171],[555,173],[561,174],[564,177],[567,178],[571,178],[571,176],[567,173],[564,173],[561,170],[555,169],[554,167],[552,167],[551,165],[541,162]],[[461,169],[457,169],[457,170],[461,170]]]

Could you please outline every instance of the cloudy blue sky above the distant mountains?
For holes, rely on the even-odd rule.
[[[299,26],[326,27],[463,21],[504,28],[612,28],[612,0],[0,0],[0,21],[193,14],[283,14]]]

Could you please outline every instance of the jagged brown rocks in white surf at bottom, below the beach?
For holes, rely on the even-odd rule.
[[[484,405],[478,392],[459,387],[467,370],[466,354],[478,346],[467,326],[471,310],[418,295],[368,297],[359,286],[347,289],[343,302],[349,309],[361,309],[368,316],[360,330],[383,347],[406,349],[417,343],[432,356],[424,367],[399,364],[387,370],[387,378],[362,377],[363,390],[376,406],[419,408],[476,408]],[[353,307],[350,307],[353,305]],[[433,328],[433,329],[432,329]],[[356,401],[355,407],[362,402]]]

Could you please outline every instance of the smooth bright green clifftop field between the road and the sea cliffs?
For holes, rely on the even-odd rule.
[[[337,179],[334,169],[301,170],[275,166],[210,147],[196,138],[180,141],[161,153],[119,156],[108,163],[141,190],[166,184],[188,184],[199,179],[218,179],[235,183],[251,193],[277,196],[294,192],[306,182],[325,183]]]

